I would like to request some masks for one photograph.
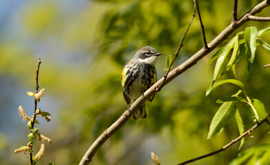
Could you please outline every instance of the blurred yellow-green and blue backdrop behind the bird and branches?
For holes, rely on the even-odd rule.
[[[238,17],[259,1],[239,1]],[[199,1],[207,41],[211,41],[232,21],[233,1]],[[43,164],[78,164],[87,148],[125,111],[121,70],[136,50],[145,45],[164,55],[157,63],[158,78],[166,73],[166,57],[177,50],[192,17],[193,1],[154,0],[0,0],[0,162],[28,164],[28,155],[14,154],[27,144],[27,123],[18,115],[22,105],[28,115],[34,111],[35,69],[41,58],[39,85],[45,88],[38,108],[52,113],[52,121],[38,118],[41,133],[51,138],[46,144]],[[269,16],[269,8],[260,15]],[[267,22],[249,22],[259,30]],[[235,33],[234,33],[235,34]],[[233,36],[233,35],[232,35]],[[229,39],[232,38],[229,37]],[[264,36],[270,41],[270,36]],[[175,66],[203,47],[196,17]],[[225,45],[224,42],[222,45]],[[221,45],[221,46],[222,46]],[[238,136],[235,120],[220,135],[206,140],[210,122],[220,104],[218,98],[238,90],[223,85],[205,97],[212,82],[211,55],[166,85],[153,102],[146,102],[148,117],[129,120],[93,157],[93,164],[153,164],[150,153],[161,164],[177,164],[209,153]],[[270,53],[258,47],[249,74],[247,62],[236,67],[238,80],[251,98],[270,103]],[[224,78],[232,78],[227,74]],[[41,89],[40,88],[40,89]],[[239,107],[246,125],[253,118]],[[247,138],[242,150],[269,143],[269,126],[260,126]],[[36,142],[36,151],[40,143]],[[194,164],[228,164],[240,152],[238,144],[227,151]],[[38,162],[38,164],[42,164]]]

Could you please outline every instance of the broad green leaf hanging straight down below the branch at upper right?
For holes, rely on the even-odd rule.
[[[257,28],[247,27],[245,29],[244,38],[246,42],[246,56],[248,61],[248,71],[251,69],[251,64],[254,62],[256,52],[256,39],[257,39]]]

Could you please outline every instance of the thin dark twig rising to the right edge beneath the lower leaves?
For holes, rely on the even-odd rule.
[[[255,124],[254,126],[252,126],[251,129],[247,130],[245,133],[243,133],[242,135],[238,136],[235,140],[232,140],[232,142],[229,142],[228,144],[226,144],[225,146],[223,146],[222,148],[220,148],[219,150],[217,151],[214,151],[212,153],[207,153],[205,155],[202,155],[200,157],[195,157],[193,159],[189,159],[188,161],[185,161],[185,162],[182,162],[180,164],[177,164],[177,165],[183,165],[183,164],[189,164],[191,162],[195,162],[199,159],[203,159],[205,157],[210,157],[212,155],[215,155],[217,153],[220,153],[222,151],[225,151],[227,148],[229,148],[229,146],[232,146],[233,144],[235,144],[236,142],[238,142],[239,140],[241,140],[243,137],[245,137],[246,135],[249,135],[251,133],[251,131],[254,131],[254,129],[258,128],[258,126],[260,126],[260,124],[264,123],[264,122],[267,122],[267,118],[264,118],[261,122],[259,122],[258,124]]]

